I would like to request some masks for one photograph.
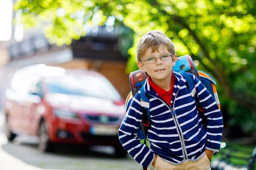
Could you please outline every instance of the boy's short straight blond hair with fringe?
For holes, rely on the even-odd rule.
[[[176,54],[172,41],[161,31],[148,31],[141,37],[136,52],[137,62],[142,62],[143,56],[148,48],[152,48],[152,53],[158,51],[160,45],[165,45],[170,54]]]

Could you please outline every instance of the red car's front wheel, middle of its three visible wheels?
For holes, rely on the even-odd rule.
[[[53,152],[53,143],[49,141],[49,134],[45,122],[41,122],[39,127],[39,143],[38,149],[42,152]]]

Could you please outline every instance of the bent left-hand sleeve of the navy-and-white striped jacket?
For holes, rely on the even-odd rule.
[[[122,146],[139,164],[144,167],[150,167],[155,155],[147,145],[141,144],[140,139],[137,137],[137,129],[143,119],[142,117],[139,91],[131,101],[131,105],[118,130],[118,136]]]

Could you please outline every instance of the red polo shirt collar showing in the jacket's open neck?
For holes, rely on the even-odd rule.
[[[168,105],[171,105],[174,82],[175,82],[175,76],[172,74],[171,89],[169,91],[165,91],[163,90],[163,88],[160,88],[158,85],[152,82],[151,78],[148,77],[148,83],[150,87],[153,88],[153,90],[158,94],[158,96],[160,96]]]

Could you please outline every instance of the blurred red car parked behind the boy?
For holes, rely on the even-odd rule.
[[[117,130],[125,102],[102,74],[46,65],[15,72],[6,89],[6,136],[39,136],[38,147],[52,151],[56,143],[112,145],[125,156]]]

